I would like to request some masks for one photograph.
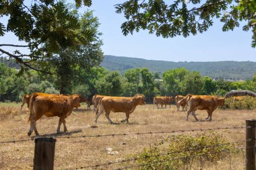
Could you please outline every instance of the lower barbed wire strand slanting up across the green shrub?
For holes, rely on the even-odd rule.
[[[236,142],[226,142],[224,144],[215,144],[215,145],[212,145],[212,146],[204,146],[204,147],[199,147],[199,148],[200,149],[202,149],[202,148],[212,148],[212,147],[215,147],[215,146],[224,146],[224,145],[227,145],[227,144],[234,144],[234,143],[238,143],[238,142],[246,142],[246,141],[249,141],[249,140],[256,140],[256,138],[248,139],[248,140],[239,140],[239,141],[236,141]],[[245,147],[240,147],[239,149],[241,149],[241,148],[245,148]],[[187,150],[187,152],[189,152],[189,151],[193,151],[193,150],[192,149]],[[163,155],[170,155],[170,154],[182,153],[182,152],[183,151],[174,151],[174,152],[162,153],[160,155],[155,155],[155,156],[159,157],[159,156],[163,156]],[[143,158],[150,158],[150,157],[143,157]],[[96,167],[100,167],[100,166],[108,166],[108,165],[113,165],[113,164],[117,164],[117,163],[125,163],[125,162],[130,162],[130,161],[137,161],[138,159],[141,159],[141,158],[131,158],[131,159],[126,159],[126,160],[121,160],[121,161],[102,163],[102,164],[98,164],[98,165],[88,165],[88,166],[85,166],[85,167],[76,167],[76,168],[71,168],[71,169],[86,169],[86,168],[93,168],[93,167],[96,168]],[[128,169],[128,168],[131,168],[131,167],[127,167],[126,169]]]

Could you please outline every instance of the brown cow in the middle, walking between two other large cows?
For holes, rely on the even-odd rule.
[[[110,124],[114,124],[112,120],[109,118],[110,111],[113,112],[124,112],[126,118],[121,122],[127,121],[129,123],[129,115],[135,110],[137,105],[145,104],[145,97],[144,95],[135,95],[134,97],[102,97],[100,99],[100,103],[98,104],[96,110],[96,118],[95,122],[97,123],[98,117],[104,111],[106,112],[105,116],[110,122]]]

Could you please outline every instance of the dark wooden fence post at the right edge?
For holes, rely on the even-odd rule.
[[[255,170],[255,125],[256,120],[246,121],[245,170]]]

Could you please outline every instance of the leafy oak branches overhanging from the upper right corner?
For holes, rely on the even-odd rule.
[[[115,5],[117,13],[127,19],[121,26],[125,36],[134,31],[149,30],[150,34],[164,38],[203,33],[213,25],[214,17],[220,18],[222,30],[234,30],[245,21],[243,30],[253,32],[252,46],[256,46],[256,2],[252,0],[129,0]]]

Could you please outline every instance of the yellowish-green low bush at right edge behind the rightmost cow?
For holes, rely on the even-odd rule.
[[[235,101],[232,97],[225,99],[226,108],[234,110],[253,110],[256,109],[255,97],[245,97],[244,99]]]

